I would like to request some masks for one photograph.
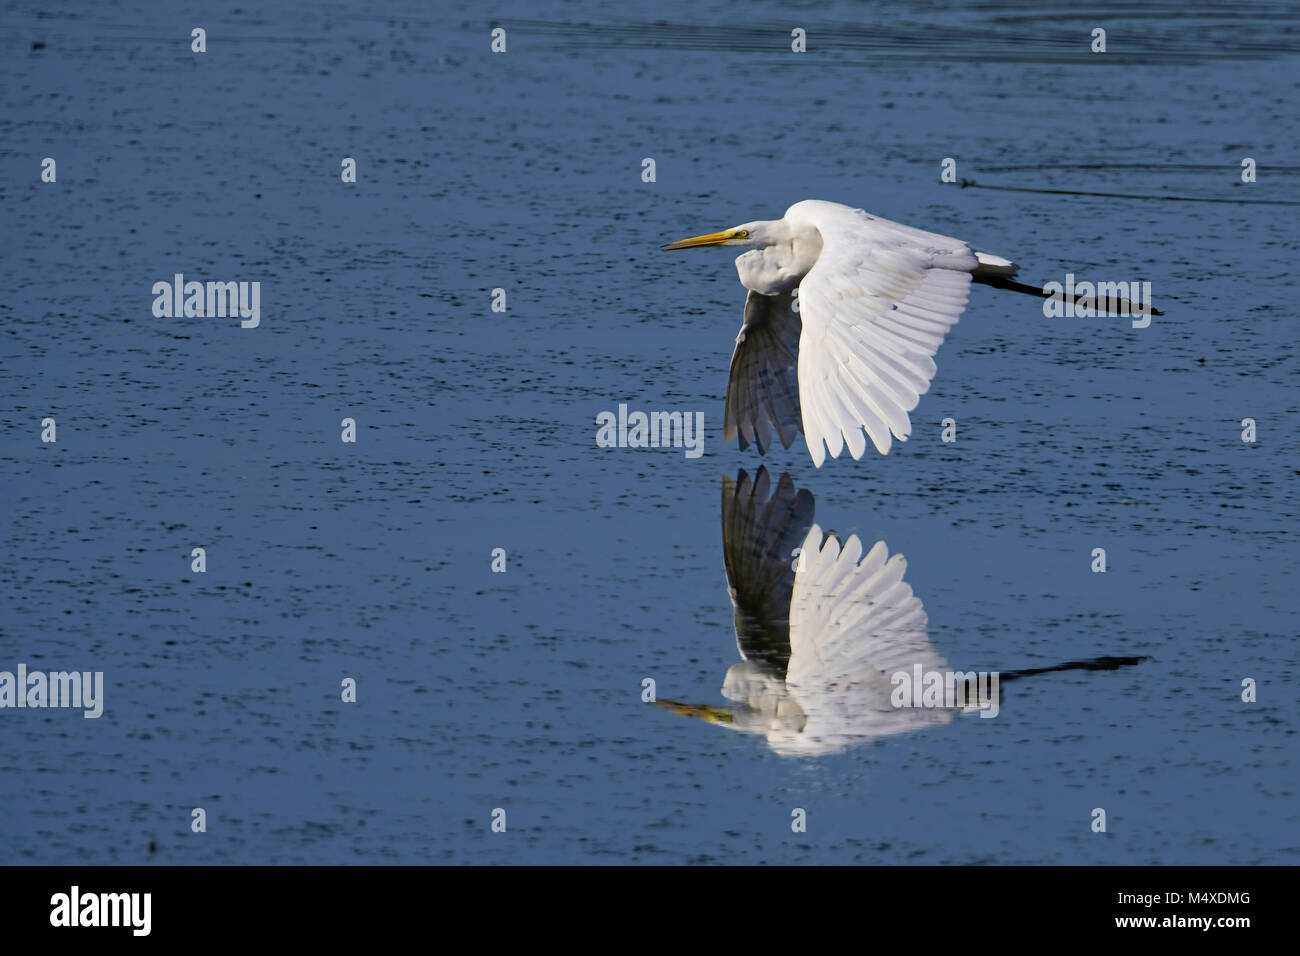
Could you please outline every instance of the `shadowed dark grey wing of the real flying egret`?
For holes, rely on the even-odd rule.
[[[738,438],[742,451],[753,442],[766,454],[772,432],[789,447],[803,431],[798,369],[802,328],[792,293],[750,291],[727,381],[724,442]]]

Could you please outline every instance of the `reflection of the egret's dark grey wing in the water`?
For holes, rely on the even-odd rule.
[[[790,597],[794,593],[794,550],[812,527],[815,502],[809,490],[794,490],[781,475],[768,498],[766,468],[750,481],[741,471],[723,477],[723,562],[736,607],[740,656],[785,679],[790,659]]]

